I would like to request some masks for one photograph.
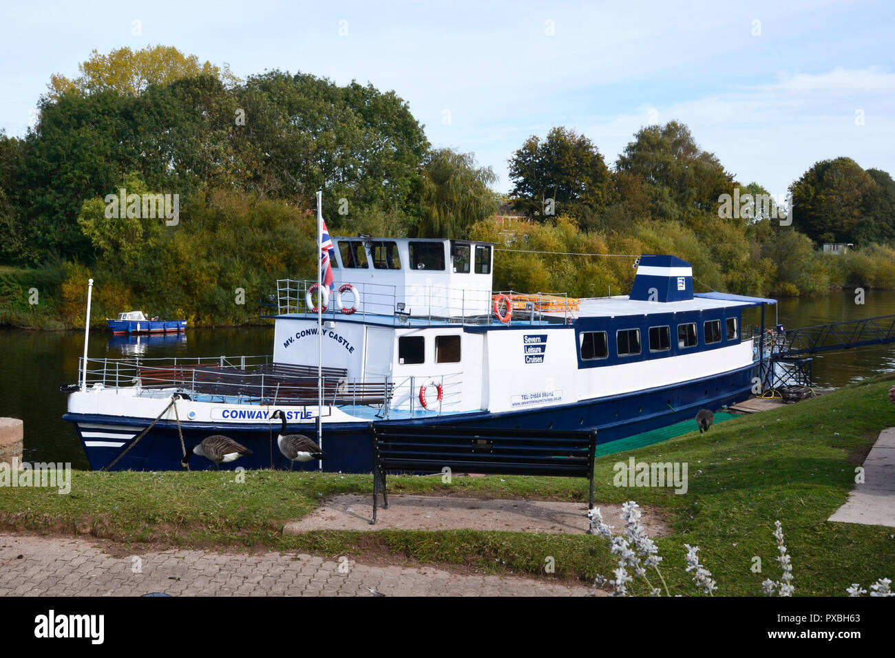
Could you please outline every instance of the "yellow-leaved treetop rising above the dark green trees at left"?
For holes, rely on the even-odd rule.
[[[170,46],[147,46],[136,52],[124,47],[108,55],[100,55],[93,50],[90,59],[78,64],[78,69],[81,75],[74,80],[58,73],[51,76],[47,85],[48,97],[58,100],[66,93],[92,94],[98,91],[139,96],[150,85],[164,85],[200,75],[213,76],[229,85],[239,81],[228,69],[222,72],[210,62],[200,64],[197,56],[184,55]]]

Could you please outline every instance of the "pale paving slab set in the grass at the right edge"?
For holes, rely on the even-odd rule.
[[[864,460],[864,482],[829,520],[895,527],[895,427],[880,432]]]

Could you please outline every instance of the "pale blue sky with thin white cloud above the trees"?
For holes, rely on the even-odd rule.
[[[507,158],[554,125],[611,164],[676,118],[738,181],[782,194],[824,158],[895,174],[893,19],[891,2],[7,4],[0,128],[24,134],[50,75],[77,75],[92,49],[163,44],[241,77],[396,90],[433,145],[473,151],[503,192]]]

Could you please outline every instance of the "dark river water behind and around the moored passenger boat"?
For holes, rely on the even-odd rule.
[[[784,298],[768,307],[765,324],[780,322],[787,329],[895,313],[895,291],[869,291],[864,304],[855,295],[834,294],[817,299]],[[744,313],[743,324],[757,324],[759,313]],[[0,329],[0,416],[25,423],[27,461],[71,462],[88,468],[81,443],[70,423],[64,423],[66,396],[60,383],[78,377],[83,332]],[[93,331],[92,358],[123,356],[268,355],[273,349],[273,326],[241,329],[188,329],[180,336],[112,337]],[[895,370],[895,344],[861,347],[814,357],[814,383],[838,388],[879,372]]]

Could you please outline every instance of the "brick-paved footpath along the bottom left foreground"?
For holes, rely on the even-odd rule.
[[[21,556],[21,557],[20,557]],[[463,576],[438,568],[364,565],[304,554],[147,551],[107,555],[82,539],[0,533],[0,596],[569,596],[586,585]]]

